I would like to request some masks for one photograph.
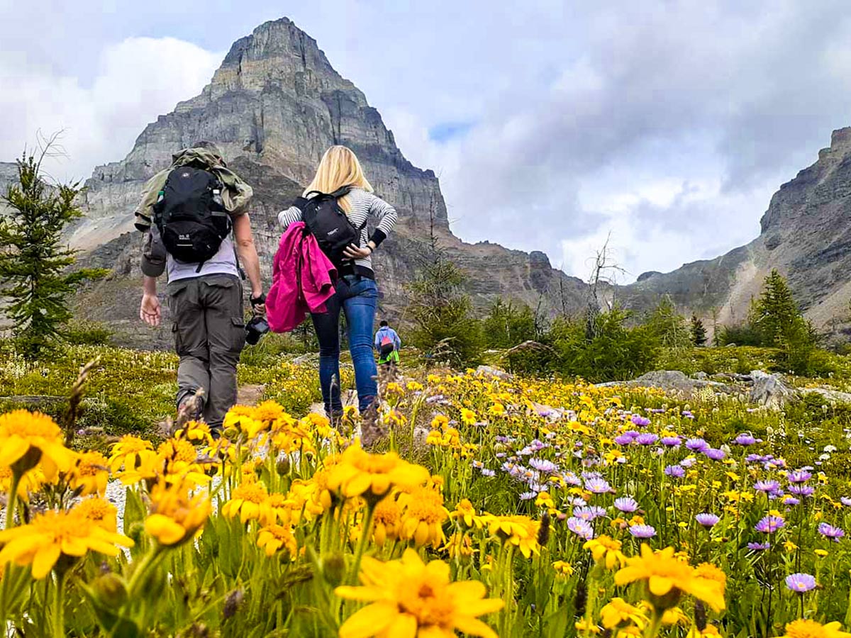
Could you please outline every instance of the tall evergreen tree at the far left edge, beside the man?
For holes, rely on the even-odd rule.
[[[49,148],[49,146],[48,146]],[[62,337],[71,310],[68,296],[101,271],[70,271],[75,251],[62,242],[62,231],[82,212],[74,204],[78,184],[49,186],[41,161],[25,155],[18,161],[18,181],[0,202],[0,294],[3,312],[13,323],[20,352],[33,359]]]

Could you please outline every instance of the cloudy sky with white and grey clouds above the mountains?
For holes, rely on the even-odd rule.
[[[287,15],[440,176],[463,239],[585,276],[610,236],[628,281],[750,241],[777,187],[851,125],[845,0],[231,6],[0,0],[0,160],[63,128],[51,172],[88,176]]]

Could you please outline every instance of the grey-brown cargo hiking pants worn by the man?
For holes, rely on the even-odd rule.
[[[203,388],[203,418],[219,430],[237,402],[237,363],[245,346],[243,284],[231,275],[206,275],[169,282],[167,291],[180,356],[177,405]]]

